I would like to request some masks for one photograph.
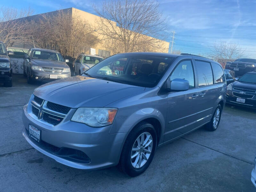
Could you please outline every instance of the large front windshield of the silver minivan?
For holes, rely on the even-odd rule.
[[[145,54],[113,55],[86,71],[86,75],[141,87],[154,87],[174,57]]]

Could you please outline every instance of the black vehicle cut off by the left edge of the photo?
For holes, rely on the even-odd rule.
[[[12,64],[8,55],[13,55],[13,52],[7,51],[4,43],[0,42],[0,82],[5,87],[12,86]]]

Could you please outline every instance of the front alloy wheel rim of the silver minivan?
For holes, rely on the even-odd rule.
[[[132,146],[131,162],[134,168],[141,168],[148,161],[153,148],[153,138],[149,132],[143,132]]]

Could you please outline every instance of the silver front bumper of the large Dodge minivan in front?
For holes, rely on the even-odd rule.
[[[109,134],[112,125],[92,128],[85,124],[67,120],[72,115],[68,114],[60,124],[52,127],[29,116],[27,106],[24,106],[22,114],[24,129],[22,135],[32,147],[57,162],[70,167],[95,170],[118,164],[126,133]],[[79,163],[67,160],[45,150],[28,136],[29,124],[41,130],[42,141],[57,148],[71,148],[82,151],[89,157],[90,162]]]

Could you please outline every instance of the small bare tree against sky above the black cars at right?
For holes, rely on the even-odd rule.
[[[212,52],[209,54],[209,57],[213,60],[223,62],[223,67],[225,67],[226,62],[243,57],[245,52],[245,50],[235,42],[227,43],[224,41],[219,43],[215,42],[211,50]]]

